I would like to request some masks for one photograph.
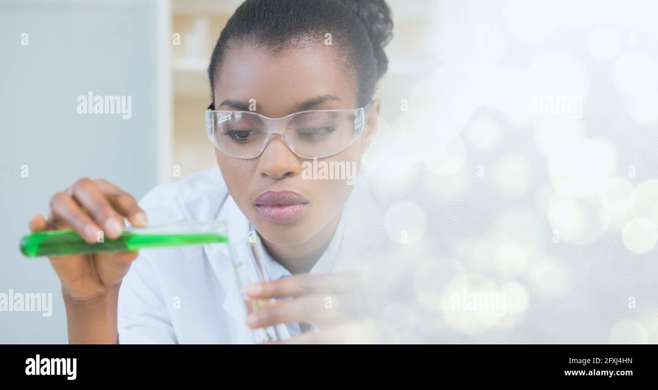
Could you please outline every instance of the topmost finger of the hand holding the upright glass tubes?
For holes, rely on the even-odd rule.
[[[245,292],[253,298],[284,298],[308,294],[345,292],[357,285],[357,276],[351,273],[307,275],[299,273],[276,281],[249,285]]]

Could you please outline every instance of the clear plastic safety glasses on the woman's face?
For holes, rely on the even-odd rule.
[[[291,152],[304,159],[342,152],[363,134],[372,99],[357,109],[299,111],[270,118],[253,111],[205,110],[205,126],[215,148],[240,159],[253,159],[279,134]]]

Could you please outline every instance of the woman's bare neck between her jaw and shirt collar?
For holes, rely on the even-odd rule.
[[[336,214],[336,217],[323,227],[318,234],[301,244],[274,244],[261,237],[263,245],[268,254],[279,264],[286,267],[290,273],[309,272],[329,246],[334,233],[336,233],[341,215],[342,212]]]

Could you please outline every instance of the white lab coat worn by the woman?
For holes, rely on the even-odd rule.
[[[224,220],[232,242],[246,240],[249,235],[249,221],[228,194],[217,167],[157,186],[139,205],[150,225]],[[336,271],[342,247],[358,256],[359,250],[346,244],[343,237],[349,233],[358,238],[353,233],[367,225],[381,227],[381,216],[381,208],[360,173],[334,237],[309,273]],[[357,245],[368,250],[364,240]],[[119,342],[253,343],[227,250],[222,244],[141,250],[120,287]],[[247,246],[232,250],[245,259],[251,256]],[[278,262],[264,257],[270,280],[290,275]],[[299,332],[299,325],[280,325],[277,329],[282,338],[288,338]]]

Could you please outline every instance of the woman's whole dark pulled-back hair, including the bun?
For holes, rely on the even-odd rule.
[[[391,11],[384,0],[246,0],[226,23],[210,65],[211,93],[228,48],[255,43],[273,53],[288,47],[322,42],[332,46],[359,83],[359,104],[372,97],[388,69],[384,46],[392,38]]]

